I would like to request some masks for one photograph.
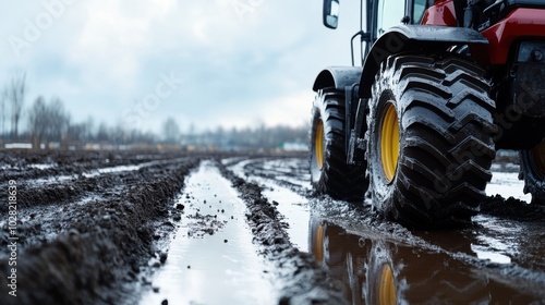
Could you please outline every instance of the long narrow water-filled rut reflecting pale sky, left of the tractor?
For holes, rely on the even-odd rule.
[[[243,217],[245,204],[218,169],[203,162],[177,204],[185,206],[181,228],[165,266],[152,279],[159,291],[146,293],[141,304],[164,300],[169,304],[274,304],[278,300],[252,243]],[[207,221],[211,218],[216,222]]]

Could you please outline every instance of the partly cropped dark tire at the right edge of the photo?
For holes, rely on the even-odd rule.
[[[532,149],[520,150],[519,161],[524,194],[532,194],[532,203],[545,204],[545,141]]]

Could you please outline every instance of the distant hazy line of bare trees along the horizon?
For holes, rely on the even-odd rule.
[[[26,74],[20,73],[0,91],[0,148],[25,147],[34,149],[129,149],[172,148],[196,150],[272,149],[286,147],[304,149],[308,126],[258,126],[195,132],[193,127],[181,131],[179,123],[167,118],[160,134],[142,132],[122,124],[116,126],[93,118],[72,122],[70,113],[59,98],[46,101],[38,97],[24,108]],[[21,118],[27,118],[21,123]],[[9,125],[9,129],[7,129]],[[21,126],[26,129],[20,129]],[[23,130],[23,132],[21,132]]]

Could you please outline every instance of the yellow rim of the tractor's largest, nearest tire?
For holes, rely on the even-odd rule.
[[[380,157],[388,183],[393,180],[399,158],[399,123],[396,107],[388,101],[380,132]]]

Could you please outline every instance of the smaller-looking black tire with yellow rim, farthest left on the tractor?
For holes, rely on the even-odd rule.
[[[368,186],[366,164],[347,164],[344,111],[344,94],[318,90],[312,110],[311,182],[320,194],[361,203]]]

